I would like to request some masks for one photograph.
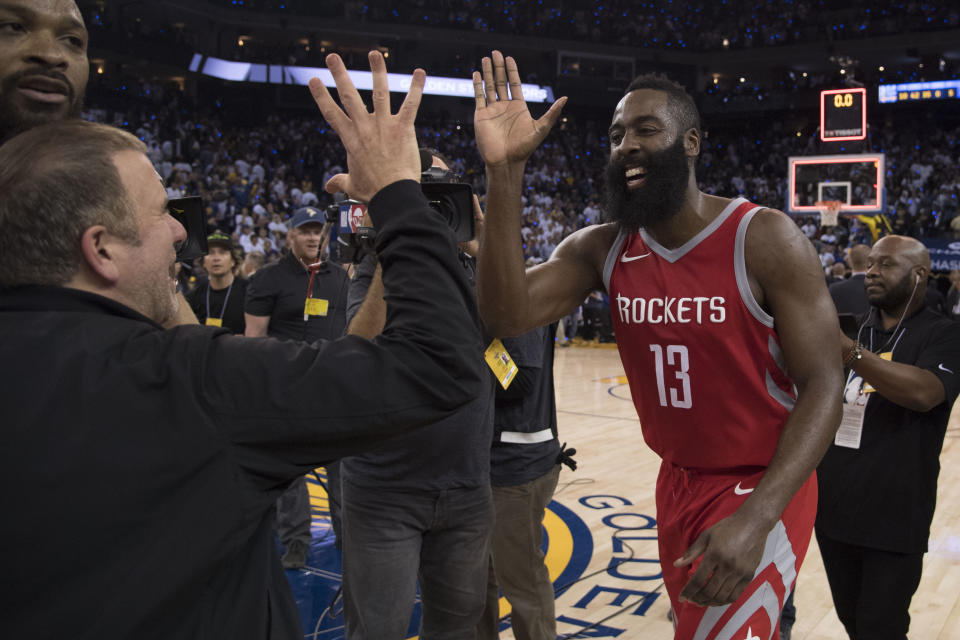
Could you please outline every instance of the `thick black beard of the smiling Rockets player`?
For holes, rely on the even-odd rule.
[[[646,180],[636,189],[627,188],[626,169],[621,162],[607,162],[603,174],[605,217],[630,232],[669,220],[683,206],[690,179],[683,138],[677,137],[670,147],[649,154],[643,167]]]

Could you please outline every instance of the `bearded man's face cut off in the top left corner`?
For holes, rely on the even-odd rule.
[[[80,114],[87,30],[74,0],[0,0],[0,144]]]

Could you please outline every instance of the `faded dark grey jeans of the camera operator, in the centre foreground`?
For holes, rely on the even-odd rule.
[[[421,640],[472,638],[487,590],[490,485],[392,491],[343,478],[341,488],[346,638],[406,638],[418,577]]]

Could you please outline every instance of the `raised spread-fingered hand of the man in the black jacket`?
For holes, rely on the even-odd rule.
[[[367,110],[350,80],[340,56],[327,56],[327,68],[337,83],[341,109],[319,78],[310,79],[310,93],[320,112],[347,150],[347,173],[326,184],[330,193],[343,191],[351,198],[369,202],[375,193],[398,180],[420,180],[420,154],[413,121],[420,107],[426,73],[413,72],[410,91],[396,115],[390,113],[390,90],[383,54],[368,54],[373,72],[373,112]]]

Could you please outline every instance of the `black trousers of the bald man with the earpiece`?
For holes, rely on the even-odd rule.
[[[817,532],[837,617],[852,640],[906,640],[922,553],[892,553]]]

